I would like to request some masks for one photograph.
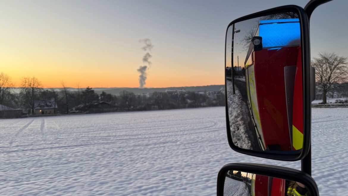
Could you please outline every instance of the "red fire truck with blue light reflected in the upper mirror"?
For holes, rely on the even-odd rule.
[[[294,22],[296,20],[298,21],[290,20],[291,27],[299,28],[299,23]],[[278,24],[274,21],[282,22]],[[296,111],[295,114],[298,114],[298,110],[303,110],[300,105],[302,58],[297,40],[299,32],[296,34],[284,31],[288,25],[285,21],[260,21],[256,34],[262,35],[262,48],[256,51],[250,48],[245,61],[248,105],[263,150],[291,151],[302,148],[303,125],[300,126],[300,116],[293,116],[293,110]],[[279,38],[272,43],[269,37],[275,39],[273,31],[285,38]],[[251,47],[254,45],[251,44]],[[293,119],[296,121],[295,127]]]

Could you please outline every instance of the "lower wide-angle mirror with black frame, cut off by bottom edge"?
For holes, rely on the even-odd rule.
[[[217,196],[311,195],[318,187],[308,174],[264,164],[234,163],[223,166],[217,177]]]

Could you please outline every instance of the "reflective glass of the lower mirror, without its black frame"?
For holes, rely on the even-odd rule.
[[[305,184],[288,179],[230,170],[226,173],[224,196],[309,196]]]

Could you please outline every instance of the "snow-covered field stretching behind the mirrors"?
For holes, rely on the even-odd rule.
[[[347,195],[348,109],[312,110],[321,195]],[[300,169],[229,148],[224,107],[0,120],[0,195],[216,195],[227,163]]]

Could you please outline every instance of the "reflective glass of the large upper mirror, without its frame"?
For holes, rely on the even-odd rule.
[[[228,133],[235,146],[288,154],[301,152],[301,48],[301,25],[295,12],[266,15],[229,26],[226,105]]]

